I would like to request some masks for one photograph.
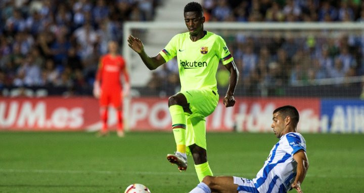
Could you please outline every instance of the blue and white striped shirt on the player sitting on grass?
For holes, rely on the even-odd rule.
[[[306,141],[299,133],[287,133],[270,150],[264,166],[253,179],[259,192],[287,192],[296,177],[297,163],[293,155],[303,149]]]

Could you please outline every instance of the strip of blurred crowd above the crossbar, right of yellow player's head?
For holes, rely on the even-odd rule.
[[[208,21],[363,21],[360,0],[204,0]]]

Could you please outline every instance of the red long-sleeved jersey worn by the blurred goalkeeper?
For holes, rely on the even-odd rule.
[[[104,55],[99,64],[96,80],[100,81],[101,89],[121,88],[120,74],[124,75],[125,81],[129,82],[125,61],[120,55]]]

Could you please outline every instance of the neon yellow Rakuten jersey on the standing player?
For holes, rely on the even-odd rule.
[[[217,91],[216,71],[219,61],[225,65],[234,59],[222,37],[209,31],[196,42],[190,39],[189,32],[179,33],[159,54],[166,62],[177,56],[181,91]]]

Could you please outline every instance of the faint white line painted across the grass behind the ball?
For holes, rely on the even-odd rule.
[[[1,169],[0,173],[61,173],[61,174],[89,174],[89,173],[97,173],[97,174],[140,174],[140,175],[173,175],[175,176],[176,173],[179,172],[146,172],[146,171],[102,171],[102,170],[23,170],[23,169]],[[195,173],[186,173],[181,172],[181,174],[188,175],[188,176],[195,176]],[[217,175],[223,176],[243,176],[249,175],[254,176],[255,174],[249,173],[217,173]],[[330,177],[337,177],[334,175],[312,175],[307,174],[307,177],[315,177],[315,178],[330,178]],[[340,175],[341,178],[363,178],[362,175]]]

